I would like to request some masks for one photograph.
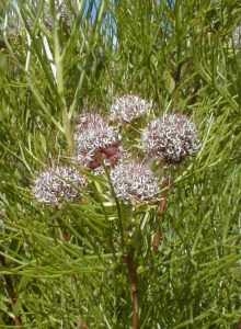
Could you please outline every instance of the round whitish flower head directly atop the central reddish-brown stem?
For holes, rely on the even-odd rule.
[[[159,193],[158,181],[149,167],[140,163],[119,163],[110,172],[116,196],[124,204],[149,202]]]

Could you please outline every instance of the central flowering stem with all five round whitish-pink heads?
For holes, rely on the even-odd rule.
[[[117,237],[115,242],[122,252],[122,264],[127,268],[128,272],[134,329],[139,326],[139,264],[136,256],[139,248],[141,215],[150,204],[153,203],[157,207],[160,198],[160,180],[151,171],[151,167],[145,163],[144,159],[131,160],[135,155],[134,147],[129,145],[128,152],[125,151],[126,146],[122,145],[122,134],[128,128],[125,125],[127,115],[129,115],[129,122],[141,116],[141,114],[144,115],[147,110],[141,107],[144,105],[145,101],[140,101],[136,97],[133,99],[129,95],[119,102],[115,101],[111,109],[111,118],[113,118],[113,109],[115,109],[115,115],[118,112],[120,116],[122,133],[119,127],[112,126],[107,118],[97,113],[84,111],[78,115],[73,129],[76,158],[72,158],[72,162],[68,166],[56,166],[42,172],[35,180],[33,188],[33,194],[39,203],[54,204],[59,207],[62,202],[80,201],[81,190],[87,188],[87,179],[74,167],[74,163],[82,169],[95,172],[96,175],[105,175],[110,180],[110,188],[103,192],[99,186],[99,193],[102,191],[104,197],[114,195],[117,202],[116,206],[119,209],[118,225],[114,229],[115,234],[112,231],[112,236],[116,235]],[[138,115],[135,111],[133,112],[135,106],[139,106]],[[122,111],[125,113],[125,120],[120,115]],[[150,122],[142,132],[140,145],[145,150],[148,149],[148,157],[152,161],[159,159],[169,163],[179,163],[186,156],[199,150],[195,125],[190,123],[187,117],[177,114],[165,114],[160,120]],[[149,162],[151,164],[151,161]],[[95,180],[93,178],[91,180],[94,183]],[[170,186],[170,183],[171,180],[168,177],[164,186]],[[91,193],[91,190],[90,184],[87,191]],[[167,197],[164,196],[159,205],[159,216],[164,212],[165,202]],[[57,223],[60,225],[58,218]],[[67,236],[66,232],[65,236]],[[67,238],[65,240],[68,241]],[[157,234],[153,240],[156,252],[159,243],[160,229],[159,223],[157,223]]]

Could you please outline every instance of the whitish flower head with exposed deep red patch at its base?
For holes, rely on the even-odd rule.
[[[74,133],[77,162],[87,169],[96,169],[102,161],[114,164],[122,154],[120,140],[118,128],[100,115],[81,115]]]

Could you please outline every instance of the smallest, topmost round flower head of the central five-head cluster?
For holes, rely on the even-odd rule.
[[[119,123],[130,123],[144,115],[150,109],[150,104],[136,95],[126,94],[117,98],[111,107],[111,120]]]

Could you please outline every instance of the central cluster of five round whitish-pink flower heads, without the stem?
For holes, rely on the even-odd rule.
[[[125,95],[112,106],[111,117],[123,123],[131,122],[147,109],[149,104],[145,101]],[[102,163],[108,167],[111,182],[122,203],[149,202],[157,197],[160,189],[153,172],[141,160],[127,160],[131,158],[131,152],[122,145],[118,127],[111,125],[106,118],[93,112],[80,114],[73,138],[73,162],[93,170],[95,174],[104,173]],[[196,154],[200,147],[195,125],[180,114],[165,114],[150,122],[142,131],[140,146],[152,159],[174,163]],[[84,178],[74,167],[57,166],[38,177],[33,194],[41,203],[58,205],[62,200],[80,198],[79,189],[84,185]]]

